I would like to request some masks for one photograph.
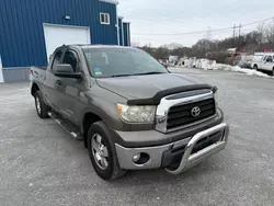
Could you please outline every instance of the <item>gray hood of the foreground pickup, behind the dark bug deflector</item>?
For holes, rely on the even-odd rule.
[[[162,90],[204,83],[194,78],[176,75],[147,75],[96,79],[99,87],[127,100],[149,99]]]

